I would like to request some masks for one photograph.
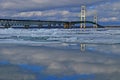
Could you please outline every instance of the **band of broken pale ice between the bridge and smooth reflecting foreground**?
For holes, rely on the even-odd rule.
[[[0,29],[0,43],[120,43],[120,29]]]

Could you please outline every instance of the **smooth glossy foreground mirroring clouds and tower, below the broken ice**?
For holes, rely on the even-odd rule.
[[[119,44],[1,43],[0,79],[119,80],[119,49]]]

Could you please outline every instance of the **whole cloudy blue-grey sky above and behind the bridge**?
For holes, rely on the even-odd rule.
[[[87,20],[96,12],[99,24],[120,25],[120,0],[0,0],[0,18],[78,21],[82,5]]]

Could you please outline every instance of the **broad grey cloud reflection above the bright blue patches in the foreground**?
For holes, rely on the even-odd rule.
[[[119,56],[104,54],[105,48],[101,49],[103,53],[44,46],[0,45],[0,53],[4,59],[17,64],[43,65],[46,67],[45,72],[50,74],[120,72]]]

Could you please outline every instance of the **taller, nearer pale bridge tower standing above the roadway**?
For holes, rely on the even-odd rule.
[[[86,28],[86,6],[81,6],[80,18],[80,21],[82,21],[80,28]]]

